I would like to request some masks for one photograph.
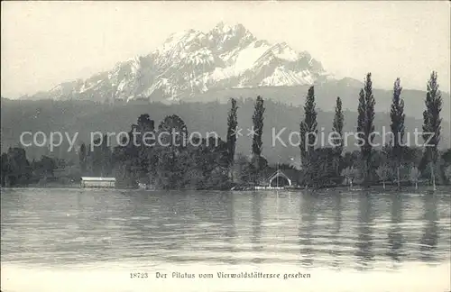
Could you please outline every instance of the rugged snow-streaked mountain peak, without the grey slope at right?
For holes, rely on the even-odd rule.
[[[114,101],[179,100],[209,90],[310,85],[326,80],[321,63],[285,43],[257,40],[242,24],[174,33],[147,56],[35,97]]]

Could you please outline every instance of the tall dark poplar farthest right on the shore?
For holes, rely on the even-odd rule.
[[[423,139],[425,141],[426,159],[430,167],[432,185],[436,190],[435,164],[437,162],[437,145],[440,141],[442,95],[438,89],[437,72],[432,71],[427,84],[425,100],[426,110],[423,112]]]

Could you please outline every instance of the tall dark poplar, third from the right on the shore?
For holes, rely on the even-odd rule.
[[[371,73],[365,78],[364,88],[360,90],[357,118],[357,132],[362,159],[364,160],[364,181],[370,185],[372,171],[372,151],[374,140],[374,105],[373,82]]]

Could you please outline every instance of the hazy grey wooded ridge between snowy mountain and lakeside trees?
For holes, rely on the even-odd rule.
[[[294,95],[294,88],[293,95]],[[296,88],[300,90],[300,88]],[[319,91],[319,90],[318,90]],[[242,91],[242,93],[244,93]],[[275,92],[273,92],[276,94]],[[320,91],[319,91],[320,93]],[[318,96],[319,96],[318,93]],[[380,96],[375,91],[376,103],[380,105]],[[262,96],[271,95],[271,90],[262,91]],[[220,95],[216,95],[220,96]],[[246,92],[243,96],[254,96],[252,92]],[[226,99],[226,95],[220,96],[221,100]],[[224,98],[223,98],[224,97]],[[388,96],[387,96],[388,98]],[[419,97],[418,97],[419,98]],[[274,97],[274,99],[277,99]],[[293,101],[295,98],[293,98]],[[356,97],[355,97],[356,100]],[[246,136],[246,129],[252,126],[254,98],[239,100],[238,105],[238,125],[244,128],[244,137],[240,137],[237,141],[237,152],[248,154],[251,149],[251,140]],[[318,104],[326,103],[318,98]],[[330,106],[335,103],[335,97],[329,99]],[[294,104],[294,103],[293,103]],[[299,103],[297,103],[299,104]],[[321,104],[320,104],[321,105]],[[406,108],[410,104],[406,101]],[[354,102],[354,106],[357,104]],[[288,143],[290,132],[299,132],[299,121],[302,118],[302,107],[296,105],[286,105],[265,99],[266,111],[264,114],[264,130],[263,130],[263,151],[262,154],[270,162],[277,160],[281,162],[289,162],[290,158],[299,157],[299,147],[288,146],[283,147],[277,142],[272,147],[272,128],[275,133],[286,127],[284,134],[281,135],[283,141]],[[345,107],[351,106],[345,105]],[[422,106],[423,107],[423,106]],[[421,107],[421,108],[422,108]],[[78,145],[81,141],[89,141],[89,132],[122,132],[130,131],[131,124],[136,123],[140,114],[150,114],[156,125],[170,114],[178,114],[187,124],[189,132],[217,132],[223,139],[226,137],[226,121],[229,105],[220,102],[191,102],[178,103],[172,105],[164,105],[162,103],[151,103],[147,101],[135,101],[126,104],[105,105],[92,101],[53,101],[53,100],[8,100],[2,99],[1,106],[1,141],[2,151],[10,146],[19,144],[19,137],[22,132],[46,132],[49,134],[53,131],[69,132],[73,136],[75,132],[78,134]],[[324,127],[325,137],[332,128],[332,120],[334,113],[332,111],[319,110],[318,112],[318,129]],[[345,132],[354,132],[357,120],[355,111],[345,111]],[[376,131],[382,132],[382,126],[386,126],[387,131],[390,130],[389,114],[376,114],[375,119]],[[413,132],[415,128],[421,131],[422,116],[407,116],[406,128],[407,132]],[[441,148],[448,148],[451,145],[450,127],[448,122],[442,123],[442,140]],[[413,134],[412,134],[413,142]],[[296,142],[296,139],[293,138]],[[420,140],[422,141],[422,140]],[[349,140],[350,146],[348,150],[355,150],[354,141]],[[42,154],[47,153],[45,147],[33,147],[26,149],[29,158],[39,158]],[[63,148],[54,153],[60,158],[75,158],[74,153],[68,154]]]

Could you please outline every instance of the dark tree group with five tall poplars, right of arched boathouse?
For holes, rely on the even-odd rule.
[[[302,183],[310,187],[333,186],[342,179],[353,186],[355,182],[364,187],[387,182],[400,188],[402,184],[413,183],[418,187],[420,179],[425,179],[436,189],[440,184],[451,183],[451,149],[439,151],[442,97],[438,89],[437,72],[432,72],[427,83],[426,108],[423,113],[422,138],[425,147],[411,146],[404,142],[406,132],[404,120],[404,100],[401,97],[400,78],[393,84],[393,96],[390,109],[391,141],[375,149],[373,82],[371,73],[366,75],[364,87],[358,98],[357,138],[363,141],[360,151],[346,152],[343,155],[344,114],[340,97],[336,98],[336,114],[333,131],[337,142],[333,147],[305,147],[301,144],[301,157],[304,166]],[[308,134],[318,132],[317,110],[315,108],[314,87],[308,90],[305,116],[300,123],[301,141],[309,140]],[[306,140],[307,137],[307,140]],[[313,138],[312,138],[313,139]]]

